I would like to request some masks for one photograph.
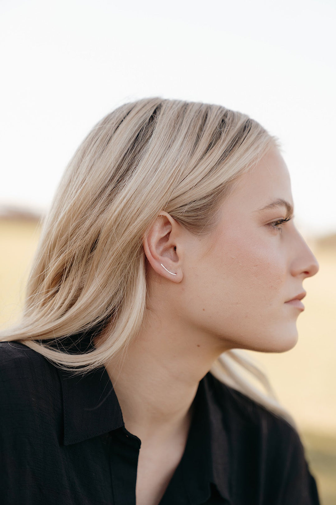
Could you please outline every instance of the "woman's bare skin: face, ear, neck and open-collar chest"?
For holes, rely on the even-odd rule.
[[[301,311],[285,302],[319,266],[293,219],[272,227],[285,207],[257,212],[278,198],[293,206],[288,169],[272,148],[221,204],[210,235],[195,236],[162,212],[144,237],[149,315],[127,352],[106,364],[125,427],[142,441],[137,503],[163,494],[214,360],[231,348],[284,352],[297,342]],[[158,468],[165,474],[146,496]]]

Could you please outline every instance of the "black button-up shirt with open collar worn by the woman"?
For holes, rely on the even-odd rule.
[[[296,430],[223,384],[200,380],[182,459],[160,505],[319,505]],[[61,371],[0,343],[0,503],[135,505],[141,440],[105,368]]]

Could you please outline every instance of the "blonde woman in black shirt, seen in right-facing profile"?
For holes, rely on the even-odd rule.
[[[319,503],[293,419],[239,350],[294,347],[317,271],[257,122],[157,97],[108,114],[3,332],[2,503]]]

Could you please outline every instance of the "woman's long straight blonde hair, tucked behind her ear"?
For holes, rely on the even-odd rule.
[[[108,114],[64,172],[42,228],[22,318],[1,340],[21,341],[75,373],[103,366],[145,320],[143,237],[159,212],[192,233],[208,233],[234,182],[276,144],[256,121],[219,105],[153,97]],[[59,348],[65,337],[107,327],[107,338],[90,352]],[[295,426],[246,352],[224,352],[210,372]]]

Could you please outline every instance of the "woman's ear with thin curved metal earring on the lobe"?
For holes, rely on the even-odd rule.
[[[146,232],[143,245],[148,263],[162,277],[181,282],[181,225],[162,211]]]

